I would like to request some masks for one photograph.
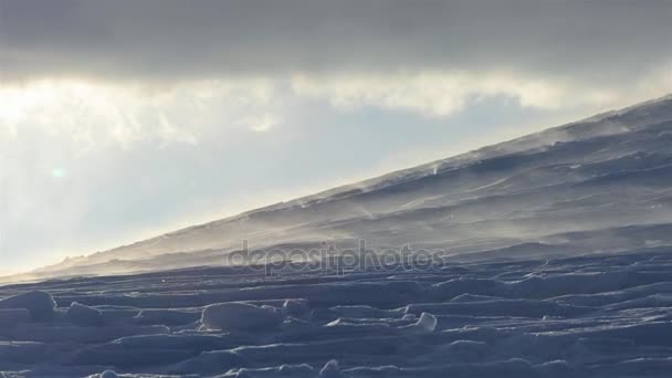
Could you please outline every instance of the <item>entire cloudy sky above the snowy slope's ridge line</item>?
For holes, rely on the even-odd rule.
[[[672,2],[0,0],[0,273],[672,92]]]

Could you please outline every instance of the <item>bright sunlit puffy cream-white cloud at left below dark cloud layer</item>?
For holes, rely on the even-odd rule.
[[[34,129],[67,135],[80,153],[109,144],[196,145],[213,129],[265,132],[276,126],[284,111],[277,83],[265,80],[182,82],[160,90],[33,81],[0,88],[6,105],[0,108],[0,143]]]

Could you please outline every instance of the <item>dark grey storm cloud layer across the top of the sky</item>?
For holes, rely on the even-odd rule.
[[[672,52],[671,1],[0,0],[6,78],[517,70],[610,81]]]

